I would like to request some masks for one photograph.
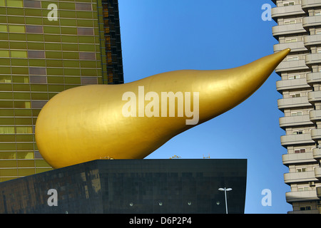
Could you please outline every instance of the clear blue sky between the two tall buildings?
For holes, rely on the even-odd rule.
[[[273,53],[275,21],[263,21],[270,0],[118,0],[125,83],[165,71],[234,68]],[[245,213],[287,213],[275,82],[265,84],[233,110],[177,135],[146,158],[246,158]],[[261,192],[271,190],[272,206]]]

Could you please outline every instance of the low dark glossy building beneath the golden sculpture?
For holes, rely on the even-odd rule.
[[[247,160],[94,160],[0,183],[0,213],[244,213]]]

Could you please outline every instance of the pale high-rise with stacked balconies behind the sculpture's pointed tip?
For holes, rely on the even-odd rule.
[[[275,70],[282,94],[277,105],[284,113],[281,145],[287,149],[282,161],[289,168],[285,197],[289,213],[321,213],[321,1],[273,2],[272,35],[279,41],[274,51],[292,50]]]

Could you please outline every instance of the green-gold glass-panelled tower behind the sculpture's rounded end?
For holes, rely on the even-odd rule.
[[[0,0],[0,182],[51,170],[41,108],[76,86],[123,83],[117,0]]]

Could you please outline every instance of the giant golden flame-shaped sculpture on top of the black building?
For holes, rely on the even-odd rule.
[[[289,52],[238,68],[170,71],[65,90],[39,113],[39,152],[54,168],[102,158],[143,159],[175,135],[242,103]]]

